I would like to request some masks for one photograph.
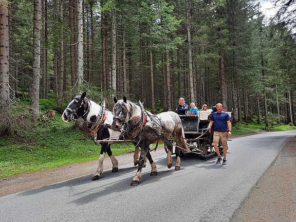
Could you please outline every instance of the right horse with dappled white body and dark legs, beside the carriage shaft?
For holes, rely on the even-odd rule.
[[[135,177],[132,179],[131,186],[138,186],[140,183],[145,157],[147,157],[151,165],[150,175],[157,175],[156,164],[149,152],[149,145],[152,143],[163,142],[165,144],[168,149],[167,165],[169,169],[172,168],[173,144],[168,140],[171,135],[175,136],[177,144],[175,147],[175,170],[180,170],[180,155],[182,152],[186,153],[189,151],[189,147],[184,139],[182,122],[178,114],[169,111],[153,115],[143,108],[140,101],[138,105],[136,105],[128,101],[125,96],[123,100],[117,100],[117,98],[114,97],[114,102],[112,129],[116,132],[126,133],[128,137],[133,139],[135,143],[141,147],[138,170]],[[181,149],[184,151],[181,151]]]

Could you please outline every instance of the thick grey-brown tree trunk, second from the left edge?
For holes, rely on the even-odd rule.
[[[31,113],[39,116],[41,0],[34,0]]]

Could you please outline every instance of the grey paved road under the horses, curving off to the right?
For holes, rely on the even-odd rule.
[[[295,131],[264,133],[229,142],[228,164],[182,158],[181,170],[155,158],[158,175],[143,170],[138,187],[132,164],[0,197],[0,221],[229,221]],[[153,153],[152,153],[153,155]],[[175,160],[175,159],[174,159]]]

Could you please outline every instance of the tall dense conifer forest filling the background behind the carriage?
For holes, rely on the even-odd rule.
[[[0,0],[0,106],[40,99],[60,112],[141,100],[152,113],[178,99],[222,103],[236,121],[295,124],[296,1],[267,18],[248,0]],[[5,110],[5,109],[3,109]]]

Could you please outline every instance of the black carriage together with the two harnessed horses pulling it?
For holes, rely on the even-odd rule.
[[[118,161],[114,157],[110,144],[126,142],[120,140],[125,135],[131,138],[135,146],[134,164],[138,165],[131,186],[137,186],[141,179],[141,170],[145,167],[145,159],[151,165],[151,176],[157,175],[156,163],[150,154],[150,145],[163,142],[167,152],[167,165],[172,168],[173,145],[175,146],[175,170],[180,170],[182,153],[193,152],[201,158],[215,154],[212,145],[213,133],[208,131],[209,115],[211,112],[199,112],[198,116],[178,116],[168,111],[154,115],[144,109],[142,103],[134,104],[126,97],[123,100],[114,98],[113,112],[102,105],[86,98],[86,93],[75,97],[62,114],[64,122],[80,121],[87,124],[95,142],[101,144],[99,164],[92,179],[98,180],[103,172],[103,160],[107,153],[112,161],[112,172],[118,172]],[[173,136],[173,139],[170,139]],[[173,140],[173,143],[172,143]],[[141,149],[139,156],[139,148]],[[219,145],[221,149],[221,145]]]

